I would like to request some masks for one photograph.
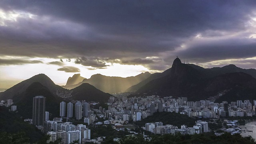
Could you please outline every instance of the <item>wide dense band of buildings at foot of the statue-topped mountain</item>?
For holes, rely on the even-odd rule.
[[[215,103],[210,100],[188,101],[186,97],[172,98],[172,96],[160,98],[159,96],[146,96],[146,98],[127,98],[126,95],[117,95],[108,100],[108,110],[104,110],[106,118],[113,117],[116,120],[139,121],[142,118],[153,115],[154,112],[176,112],[186,114],[189,117],[219,118],[220,116],[253,116],[255,115],[256,100],[254,105],[249,100],[237,100],[237,102],[223,101]]]

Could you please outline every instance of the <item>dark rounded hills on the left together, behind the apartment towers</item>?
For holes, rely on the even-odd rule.
[[[0,92],[0,100],[13,99],[18,113],[24,118],[32,118],[33,97],[35,96],[46,97],[46,111],[49,111],[50,118],[53,118],[59,116],[59,106],[62,101],[86,100],[104,103],[112,95],[87,83],[68,90],[54,84],[45,74],[38,74]]]

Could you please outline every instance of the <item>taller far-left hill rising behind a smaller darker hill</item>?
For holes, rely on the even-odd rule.
[[[34,82],[40,82],[43,86],[46,86],[54,95],[68,93],[67,89],[64,89],[61,86],[54,84],[54,82],[45,74],[38,74],[12,86],[4,92],[1,92],[0,100],[12,99],[14,95],[24,92],[28,88],[28,86],[30,86]]]

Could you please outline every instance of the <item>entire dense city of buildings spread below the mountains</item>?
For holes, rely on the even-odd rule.
[[[152,134],[201,134],[204,132],[212,131],[208,126],[208,122],[199,119],[206,120],[218,120],[220,118],[228,117],[244,117],[255,116],[256,100],[253,100],[253,104],[249,100],[237,100],[236,102],[223,101],[222,103],[214,103],[210,100],[200,101],[188,101],[186,97],[172,98],[172,96],[160,98],[159,96],[152,95],[141,97],[127,98],[129,94],[113,94],[108,100],[107,108],[99,106],[98,109],[90,108],[97,105],[97,102],[85,102],[85,101],[73,101],[73,102],[61,102],[60,103],[60,117],[49,120],[49,112],[45,111],[44,96],[35,96],[33,98],[33,111],[32,119],[25,119],[24,121],[30,122],[30,124],[36,125],[36,127],[42,132],[49,135],[47,142],[54,142],[58,138],[61,139],[63,144],[70,144],[72,142],[78,142],[79,144],[85,144],[86,142],[92,142],[101,144],[104,142],[104,136],[91,139],[91,130],[88,126],[93,125],[112,125],[112,128],[116,131],[128,131],[131,135],[138,134],[133,127],[138,127],[134,122],[141,121],[148,116],[152,116],[156,112],[175,112],[178,114],[187,115],[190,118],[195,118],[193,126],[188,127],[185,124],[181,126],[174,126],[171,124],[163,124],[163,122],[150,122],[145,123],[141,127],[144,138],[150,140],[150,136],[145,135],[145,131]],[[11,99],[1,101],[1,106],[10,108],[10,111],[18,111],[16,105]],[[73,110],[74,108],[74,110]],[[74,112],[74,114],[73,114]],[[198,119],[198,120],[197,120]],[[83,124],[72,124],[72,121],[79,121]],[[214,122],[210,122],[214,123]],[[225,129],[222,126],[221,132],[216,135],[221,135],[224,132],[231,134],[241,133],[239,123],[237,120],[226,121]],[[129,128],[131,127],[131,128]],[[216,129],[218,130],[218,129]],[[147,133],[148,134],[148,133]],[[113,141],[118,142],[120,138],[114,138]],[[145,139],[146,140],[146,139]]]

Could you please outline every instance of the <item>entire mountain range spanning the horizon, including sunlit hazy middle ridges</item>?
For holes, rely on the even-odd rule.
[[[194,64],[183,64],[179,58],[176,58],[172,68],[162,73],[145,72],[128,78],[95,74],[89,79],[75,74],[68,78],[66,86],[63,86],[69,87],[70,90],[54,84],[45,74],[38,74],[0,92],[0,100],[18,100],[22,99],[22,96],[26,97],[29,86],[34,82],[42,84],[51,96],[58,99],[58,102],[60,100],[106,102],[111,96],[106,92],[130,92],[131,96],[154,94],[161,97],[187,97],[188,100],[193,101],[253,100],[256,99],[255,78],[255,69],[242,69],[233,64],[221,68],[202,68]]]

